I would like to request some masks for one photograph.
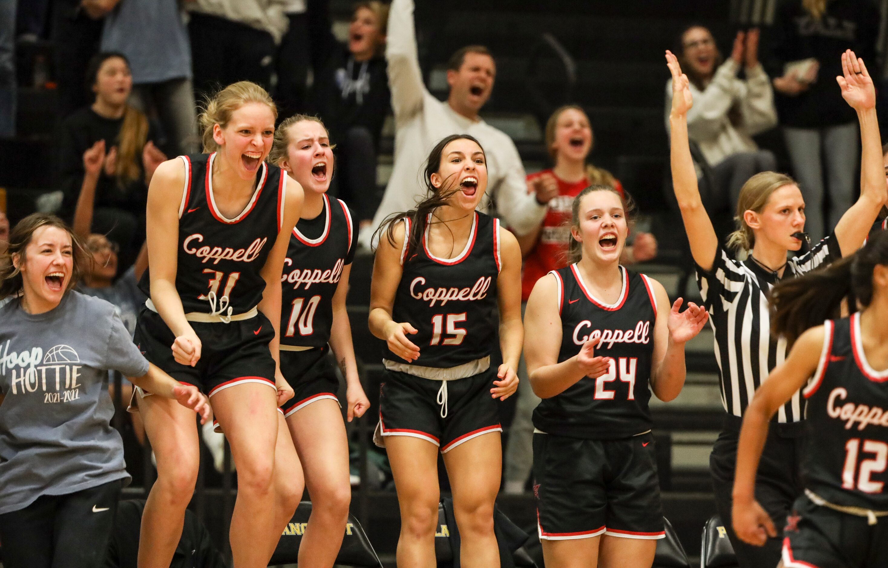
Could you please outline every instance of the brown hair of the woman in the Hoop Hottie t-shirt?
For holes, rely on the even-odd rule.
[[[83,248],[80,239],[77,238],[71,227],[67,226],[59,217],[45,213],[32,213],[12,227],[12,231],[9,233],[9,248],[0,255],[0,300],[9,296],[18,296],[22,288],[24,288],[21,270],[16,268],[15,264],[12,264],[12,258],[13,256],[18,256],[20,265],[25,262],[25,249],[28,248],[28,244],[34,238],[36,230],[42,226],[58,227],[71,238],[71,280],[68,282],[65,292],[74,288],[77,280],[80,279],[83,265],[90,258]]]

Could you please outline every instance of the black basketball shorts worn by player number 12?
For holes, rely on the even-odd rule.
[[[803,494],[786,522],[782,553],[786,568],[888,566],[888,517],[868,525],[867,517],[821,507]]]

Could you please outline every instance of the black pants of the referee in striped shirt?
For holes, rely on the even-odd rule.
[[[793,501],[802,494],[800,475],[805,445],[805,424],[771,423],[765,450],[756,472],[756,499],[771,516],[777,537],[763,547],[754,547],[737,538],[731,524],[733,473],[737,463],[737,441],[741,418],[728,415],[725,427],[712,446],[710,473],[716,496],[716,509],[727,530],[740,568],[771,568],[781,560],[783,527]]]

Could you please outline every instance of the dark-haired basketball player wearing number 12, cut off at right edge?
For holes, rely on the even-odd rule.
[[[835,318],[849,292],[860,312]],[[751,545],[776,536],[756,501],[768,421],[798,389],[807,398],[805,493],[787,518],[784,568],[888,565],[888,234],[854,256],[772,290],[774,332],[795,344],[746,409],[733,485],[733,528]],[[817,321],[822,321],[817,325]]]

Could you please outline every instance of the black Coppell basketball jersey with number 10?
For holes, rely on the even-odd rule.
[[[289,237],[281,276],[281,345],[323,347],[333,324],[333,295],[345,264],[351,264],[353,219],[345,202],[323,196],[320,236],[308,238],[300,219]]]

